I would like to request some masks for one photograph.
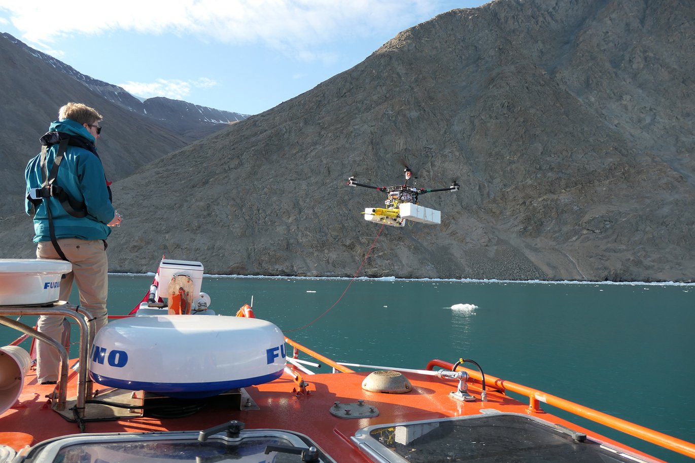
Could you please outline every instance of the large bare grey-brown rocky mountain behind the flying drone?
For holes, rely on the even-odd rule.
[[[165,254],[207,273],[692,281],[694,24],[688,0],[434,17],[116,183],[111,270]],[[384,194],[347,178],[398,185],[403,164],[461,184],[420,197],[441,225],[361,216]],[[0,223],[6,254],[31,255],[29,226]]]

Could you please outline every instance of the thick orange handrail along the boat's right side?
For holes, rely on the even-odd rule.
[[[430,360],[426,368],[428,370],[432,370],[434,367],[452,369],[454,365],[450,362],[445,362],[444,360]],[[464,367],[457,367],[457,371],[459,370],[466,371],[471,378],[482,380],[480,371],[475,371]],[[553,407],[565,410],[566,412],[581,416],[582,418],[589,419],[595,423],[608,426],[609,428],[625,432],[626,434],[651,442],[657,446],[668,448],[671,451],[695,458],[695,444],[678,439],[678,437],[669,436],[663,432],[658,432],[653,429],[645,428],[644,426],[639,426],[635,423],[630,423],[630,421],[617,418],[616,416],[612,416],[607,413],[599,412],[598,410],[594,410],[589,407],[584,407],[584,405],[579,405],[578,403],[568,401],[564,398],[546,394],[546,392],[533,389],[532,387],[520,385],[516,382],[502,380],[490,375],[485,375],[485,379],[488,384],[494,384],[496,387],[527,396],[530,400],[529,410],[532,412],[540,410],[539,402],[547,403],[548,405],[552,405]]]

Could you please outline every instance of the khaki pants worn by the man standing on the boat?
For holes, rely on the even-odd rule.
[[[60,281],[60,300],[67,301],[72,291],[72,281],[77,283],[81,307],[95,319],[96,331],[106,325],[106,296],[108,295],[108,260],[105,243],[101,239],[86,241],[78,238],[58,239],[58,245],[65,257],[72,262],[72,272]],[[36,248],[39,259],[60,259],[53,243],[40,242]],[[59,315],[42,315],[39,317],[38,330],[57,339],[63,333],[63,317]],[[91,348],[91,346],[90,346]],[[60,356],[56,350],[43,342],[37,343],[36,379],[38,382],[58,380]],[[80,365],[86,368],[86,365]]]

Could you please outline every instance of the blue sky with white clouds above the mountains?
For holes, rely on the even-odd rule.
[[[136,96],[258,114],[485,1],[0,0],[0,31]]]

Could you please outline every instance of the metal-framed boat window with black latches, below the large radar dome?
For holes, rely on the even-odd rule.
[[[161,432],[154,434],[80,435],[54,439],[35,447],[27,462],[54,463],[291,463],[301,462],[300,452],[277,448],[308,448],[305,436],[281,430],[242,431],[240,437],[224,433],[208,440],[197,440],[197,432]],[[267,448],[269,453],[265,453]],[[320,454],[318,462],[332,462]]]

